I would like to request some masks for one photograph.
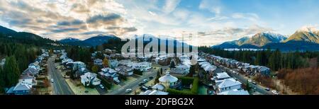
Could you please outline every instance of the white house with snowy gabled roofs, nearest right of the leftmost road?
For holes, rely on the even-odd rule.
[[[91,72],[87,72],[81,76],[81,83],[84,86],[90,86],[90,85],[96,86],[96,85],[101,84],[101,80],[96,77],[96,74],[93,74]]]

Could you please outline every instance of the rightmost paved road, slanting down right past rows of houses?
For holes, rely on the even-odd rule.
[[[223,69],[227,72],[227,74],[229,74],[230,76],[232,76],[233,78],[237,79],[238,81],[240,81],[242,84],[245,84],[247,82],[247,79],[245,79],[241,74],[237,75],[237,71],[235,71],[235,73],[231,72],[230,69],[228,67],[223,67],[221,65],[218,65],[216,64],[216,66],[220,69]],[[254,89],[254,91],[257,91],[259,93],[262,93],[264,95],[273,95],[270,91],[266,91],[264,87],[260,86],[259,84],[252,84],[252,83],[249,83],[250,86],[252,86]]]

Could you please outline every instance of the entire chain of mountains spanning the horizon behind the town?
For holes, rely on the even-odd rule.
[[[39,35],[26,32],[16,32],[9,28],[5,28],[0,25],[0,36],[2,40],[11,40],[14,42],[28,43],[33,45],[52,45],[55,44],[65,44],[65,45],[77,45],[77,46],[96,46],[102,45],[108,40],[116,39],[121,40],[121,38],[115,35],[97,35],[86,40],[78,40],[76,38],[65,38],[57,42],[50,40],[48,38],[42,38]],[[187,45],[184,42],[179,42],[175,39],[164,39],[157,38],[153,35],[135,35],[135,40],[138,38],[143,38],[144,42],[150,42],[150,40],[145,40],[145,38],[150,38],[151,40],[160,39],[166,40],[166,44],[173,43],[174,47],[178,45]],[[133,39],[134,39],[133,38]],[[132,40],[132,39],[131,39]],[[255,49],[279,49],[279,50],[317,50],[319,51],[319,30],[316,28],[301,28],[296,30],[293,35],[289,38],[285,35],[280,35],[277,33],[257,33],[251,37],[240,38],[239,40],[233,40],[230,42],[223,42],[221,45],[215,45],[214,48],[255,48]]]

